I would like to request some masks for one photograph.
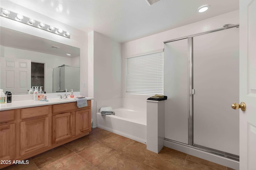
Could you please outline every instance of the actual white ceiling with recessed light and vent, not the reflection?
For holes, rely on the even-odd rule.
[[[160,0],[151,6],[146,0],[10,1],[82,31],[97,31],[121,43],[239,9],[239,0]],[[208,11],[196,12],[206,4],[211,6]]]

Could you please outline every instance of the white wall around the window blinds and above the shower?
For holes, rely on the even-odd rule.
[[[161,33],[150,35],[129,41],[122,44],[122,97],[136,98],[146,100],[149,96],[144,95],[130,95],[125,92],[125,59],[134,55],[147,53],[150,51],[157,51],[164,48],[164,41],[184,37],[196,33],[209,31],[222,27],[222,25],[232,23],[239,23],[239,11],[233,11],[220,16],[208,18],[206,20],[198,21],[189,25],[184,25],[175,29],[170,29]]]

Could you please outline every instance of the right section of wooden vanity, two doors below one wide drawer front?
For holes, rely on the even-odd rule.
[[[70,141],[91,131],[91,100],[87,104],[81,108],[76,102],[52,106],[52,144]]]

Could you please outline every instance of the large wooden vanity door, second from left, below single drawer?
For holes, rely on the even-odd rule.
[[[48,147],[49,118],[20,122],[20,155]]]

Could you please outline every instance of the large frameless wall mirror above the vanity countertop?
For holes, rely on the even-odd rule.
[[[80,91],[80,49],[0,27],[0,89],[28,94]]]

